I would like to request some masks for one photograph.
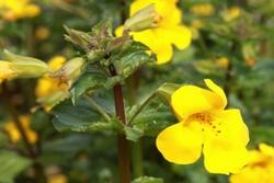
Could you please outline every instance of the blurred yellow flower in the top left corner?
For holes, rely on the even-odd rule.
[[[0,15],[7,21],[34,18],[41,13],[39,7],[30,3],[30,0],[0,0]]]

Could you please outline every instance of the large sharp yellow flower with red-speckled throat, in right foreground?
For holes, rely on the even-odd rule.
[[[227,99],[221,88],[205,80],[210,90],[183,85],[171,96],[180,123],[161,131],[157,148],[174,163],[189,164],[204,153],[212,173],[229,174],[247,163],[249,131],[237,108],[224,110]]]

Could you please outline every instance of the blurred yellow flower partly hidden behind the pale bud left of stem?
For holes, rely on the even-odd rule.
[[[48,67],[52,71],[57,71],[65,62],[66,58],[64,56],[55,56],[48,61]],[[46,75],[38,80],[35,88],[35,95],[45,110],[49,111],[56,102],[69,95],[69,87],[67,83],[60,83],[59,79]]]

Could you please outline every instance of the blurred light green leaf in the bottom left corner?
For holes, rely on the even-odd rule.
[[[14,178],[31,165],[31,160],[14,152],[0,151],[0,182],[13,182]]]

